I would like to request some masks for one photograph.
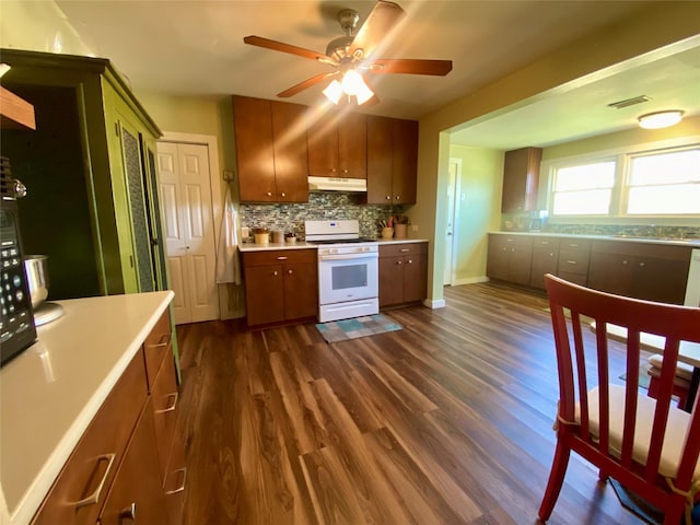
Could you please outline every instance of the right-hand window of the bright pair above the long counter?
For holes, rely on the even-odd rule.
[[[628,214],[700,213],[700,148],[630,161]]]

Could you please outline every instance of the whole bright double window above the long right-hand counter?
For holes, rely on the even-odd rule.
[[[550,161],[550,215],[699,215],[700,144],[654,147]]]

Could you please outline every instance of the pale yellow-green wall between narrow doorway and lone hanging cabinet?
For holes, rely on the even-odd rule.
[[[486,278],[487,232],[499,230],[503,152],[453,144],[450,158],[462,160],[455,218],[453,284]]]

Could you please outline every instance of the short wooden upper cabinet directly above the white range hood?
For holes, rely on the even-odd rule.
[[[366,178],[368,126],[360,113],[328,113],[308,128],[308,175]]]

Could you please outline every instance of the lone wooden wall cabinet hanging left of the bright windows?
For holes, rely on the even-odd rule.
[[[506,151],[503,165],[501,211],[518,213],[537,208],[541,148]]]

